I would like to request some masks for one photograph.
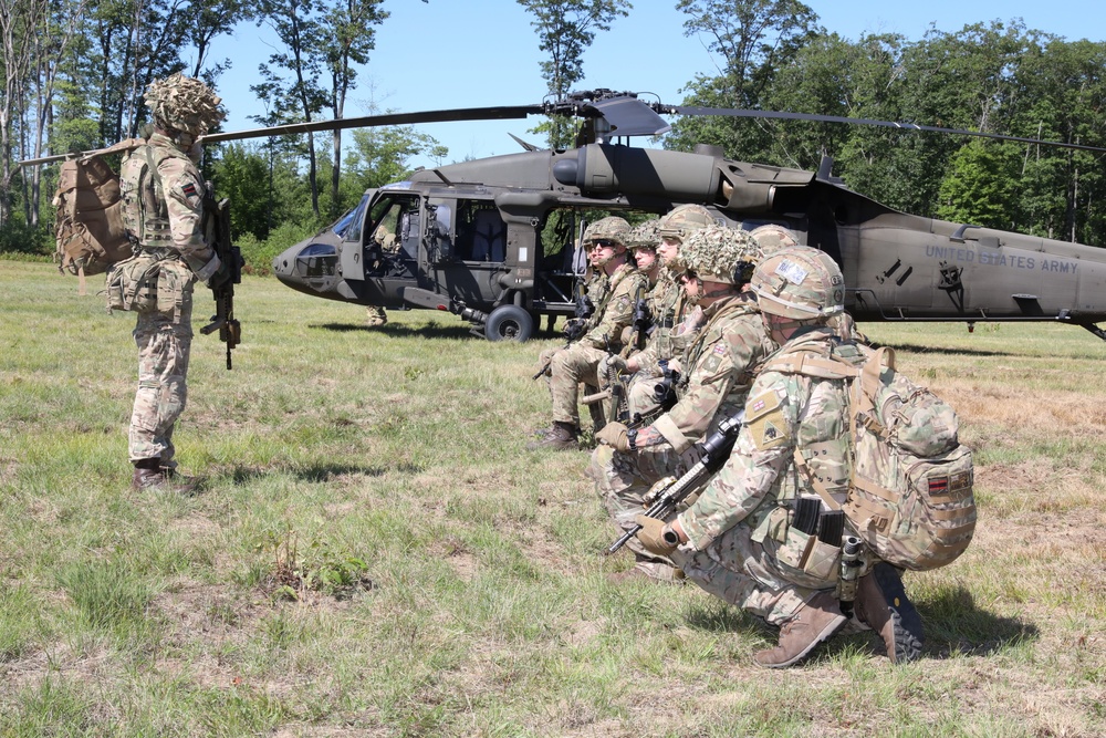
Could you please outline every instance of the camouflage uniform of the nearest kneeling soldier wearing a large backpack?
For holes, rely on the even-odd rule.
[[[844,380],[773,371],[795,352],[860,353],[828,328],[800,330],[769,360],[749,392],[745,426],[726,466],[696,502],[680,513],[688,536],[672,560],[711,594],[781,625],[817,591],[837,582],[833,554],[810,555],[799,568],[807,537],[791,527],[794,501],[816,495],[795,461],[844,501],[849,479],[848,389]],[[818,568],[821,567],[821,569]]]

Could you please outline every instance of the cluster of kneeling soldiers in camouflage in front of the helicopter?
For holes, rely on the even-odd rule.
[[[859,355],[836,263],[785,228],[730,228],[698,205],[634,229],[604,218],[584,239],[596,309],[574,326],[578,341],[542,355],[553,423],[530,448],[578,448],[578,386],[607,385],[611,420],[595,429],[586,474],[619,533],[640,527],[634,567],[613,579],[691,581],[779,626],[779,645],[754,656],[764,667],[795,664],[844,628],[877,631],[893,662],[916,658],[921,622],[899,571],[858,563],[847,617],[838,567],[813,565],[814,539],[794,524],[797,501],[830,509],[848,486],[845,383],[781,362]],[[641,514],[740,413],[734,448],[698,497],[665,520]]]

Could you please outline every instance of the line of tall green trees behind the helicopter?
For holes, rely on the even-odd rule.
[[[426,1],[426,0],[424,0]],[[518,0],[546,55],[553,95],[584,80],[597,33],[633,12],[626,0]],[[797,0],[678,0],[684,32],[702,39],[711,73],[685,105],[818,113],[1106,147],[1106,43],[1067,41],[992,21],[921,39],[843,39]],[[146,85],[182,71],[218,90],[213,39],[270,27],[281,46],[251,89],[260,125],[340,118],[371,64],[384,0],[0,0],[0,251],[49,250],[52,168],[24,158],[92,149],[147,123]],[[369,66],[371,69],[371,66]],[[597,79],[597,83],[602,80]],[[551,146],[568,121],[535,129]],[[316,137],[330,145],[316,146]],[[352,207],[366,187],[403,178],[418,155],[448,152],[411,127],[273,137],[207,153],[233,202],[236,238],[294,240]],[[924,216],[1106,243],[1102,154],[860,125],[684,117],[664,145],[705,143],[730,158],[816,169],[824,156],[853,189]],[[31,245],[28,247],[28,245]]]

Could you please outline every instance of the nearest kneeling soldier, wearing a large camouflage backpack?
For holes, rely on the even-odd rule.
[[[638,538],[706,591],[779,626],[779,645],[753,661],[780,668],[802,661],[845,624],[834,596],[838,559],[813,551],[815,539],[803,528],[821,530],[821,519],[833,514],[822,495],[839,506],[852,468],[846,381],[794,373],[780,362],[802,355],[814,367],[817,356],[833,354],[859,365],[864,357],[826,325],[841,314],[845,295],[841,270],[827,254],[805,247],[778,251],[758,266],[751,289],[780,351],[749,391],[745,425],[726,466],[670,523],[638,516]],[[801,524],[801,518],[815,524]],[[883,636],[893,662],[917,658],[921,619],[899,571],[883,562],[865,570],[857,617]]]

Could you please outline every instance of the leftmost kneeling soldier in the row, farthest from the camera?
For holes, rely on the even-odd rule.
[[[526,446],[530,449],[580,448],[580,383],[597,385],[599,362],[622,349],[623,331],[634,322],[634,295],[646,281],[628,260],[624,243],[628,231],[629,224],[617,217],[603,218],[588,229],[592,263],[609,278],[609,289],[587,319],[578,341],[542,354],[543,360],[549,360],[545,371],[553,399],[553,424],[541,440]]]

